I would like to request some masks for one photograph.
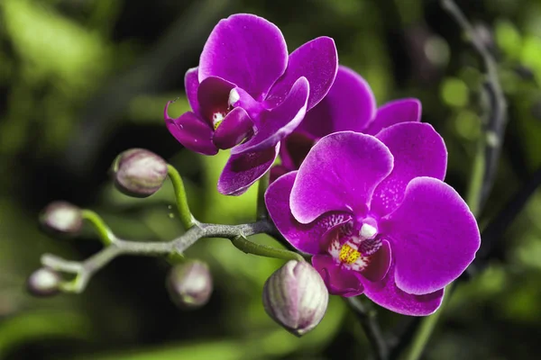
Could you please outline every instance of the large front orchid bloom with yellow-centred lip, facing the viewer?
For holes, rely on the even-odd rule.
[[[442,181],[446,162],[443,139],[426,123],[376,137],[336,132],[272,183],[265,202],[289,243],[313,255],[329,293],[428,315],[481,242],[472,212]]]

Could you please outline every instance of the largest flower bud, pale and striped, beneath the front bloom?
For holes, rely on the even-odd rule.
[[[263,307],[267,314],[298,337],[316,328],[325,315],[328,301],[323,279],[306,261],[289,260],[263,287]]]

